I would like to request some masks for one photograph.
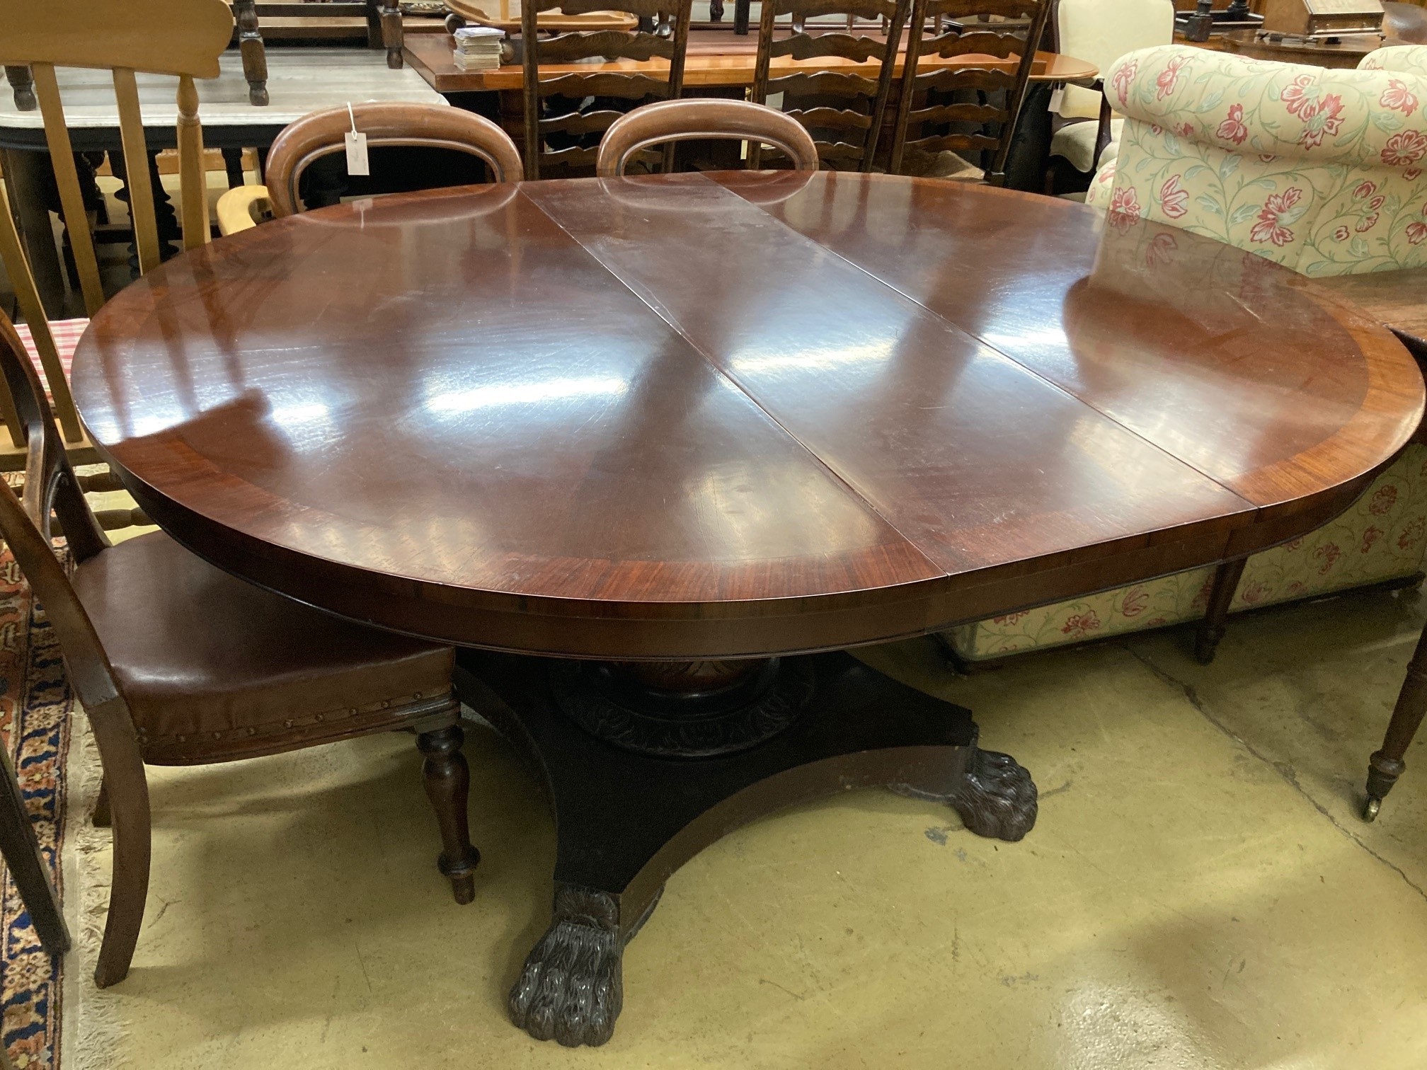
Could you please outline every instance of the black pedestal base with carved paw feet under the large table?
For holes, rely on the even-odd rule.
[[[511,1020],[532,1037],[571,1047],[609,1040],[622,1003],[624,947],[664,882],[709,843],[766,813],[856,788],[890,788],[949,803],[980,836],[1019,840],[1035,825],[1035,783],[1007,755],[977,749],[969,709],[848,653],[783,658],[756,672],[768,676],[769,665],[776,679],[735,683],[749,702],[763,703],[782,683],[783,700],[796,706],[782,730],[736,753],[669,758],[581,728],[598,722],[581,718],[578,703],[572,709],[571,692],[589,681],[608,702],[599,668],[458,653],[461,698],[527,752],[555,812],[554,916],[509,997]],[[625,700],[629,693],[622,692]],[[668,705],[661,713],[668,716]]]

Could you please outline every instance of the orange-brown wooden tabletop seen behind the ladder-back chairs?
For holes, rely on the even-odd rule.
[[[753,84],[753,67],[756,61],[758,43],[751,37],[735,37],[726,31],[701,31],[689,34],[688,60],[684,64],[684,86],[751,86]],[[462,71],[457,68],[451,58],[451,39],[444,34],[421,34],[408,37],[405,46],[407,63],[427,80],[438,93],[462,93],[477,90],[519,90],[522,86],[519,64],[507,64],[495,70]],[[795,68],[806,70],[809,66],[826,70],[863,70],[876,73],[876,63],[853,63],[835,56],[821,57],[812,61],[798,63],[791,57],[773,58],[771,67],[772,77],[792,74]],[[932,67],[983,67],[990,70],[1015,70],[1015,58],[996,58],[993,56],[950,56],[946,58],[923,57],[920,70]],[[664,60],[616,60],[612,63],[565,63],[542,64],[542,70],[551,74],[591,74],[598,71],[646,71],[658,77],[665,77],[668,63]],[[896,70],[902,70],[899,56]],[[1077,60],[1073,56],[1037,51],[1032,66],[1032,81],[1090,81],[1099,74],[1092,63]]]

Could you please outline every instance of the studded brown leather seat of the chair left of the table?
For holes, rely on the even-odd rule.
[[[151,532],[76,568],[144,760],[187,765],[370,732],[451,693],[450,646],[348,623]],[[136,626],[141,623],[141,626]]]

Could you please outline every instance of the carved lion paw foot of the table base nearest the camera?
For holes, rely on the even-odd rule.
[[[561,889],[555,919],[511,989],[511,1021],[565,1047],[604,1044],[624,1004],[624,944],[614,902]]]

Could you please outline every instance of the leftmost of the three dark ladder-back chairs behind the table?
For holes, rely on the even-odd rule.
[[[601,98],[628,101],[649,98],[678,100],[684,93],[684,60],[689,47],[689,10],[692,0],[528,0],[521,6],[522,80],[525,84],[525,177],[539,178],[542,168],[568,170],[592,167],[596,146],[584,144],[591,134],[602,136],[624,111],[602,107]],[[641,20],[641,29],[596,30],[592,33],[562,33],[541,40],[537,17],[541,11],[559,9],[567,16],[591,11],[625,11]],[[658,31],[644,29],[658,27]],[[665,30],[669,33],[665,33]],[[604,57],[606,60],[668,60],[669,68],[658,77],[656,68],[585,73],[559,73],[541,77],[541,64],[567,64]],[[549,97],[571,101],[595,98],[595,111],[545,114]],[[547,151],[551,137],[569,140],[569,146],[555,146]],[[654,153],[636,157],[641,163],[658,163]],[[674,167],[674,144],[665,146],[664,170]],[[549,177],[549,175],[547,175]]]

